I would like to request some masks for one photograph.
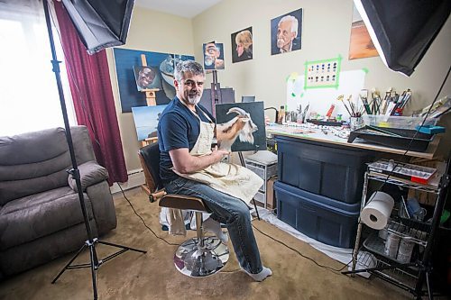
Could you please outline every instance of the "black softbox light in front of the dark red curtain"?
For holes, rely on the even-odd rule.
[[[133,3],[134,0],[62,0],[88,54],[124,45]]]

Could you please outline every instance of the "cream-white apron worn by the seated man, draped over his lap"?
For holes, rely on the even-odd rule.
[[[198,114],[195,114],[191,110],[189,111],[196,115],[200,122],[198,141],[196,141],[193,149],[189,151],[189,154],[193,156],[209,155],[212,152],[211,142],[213,141],[215,123],[202,122]],[[202,112],[200,108],[199,111]],[[202,112],[202,114],[204,114],[204,112]],[[211,122],[208,115],[204,115]],[[243,200],[246,205],[249,205],[253,196],[263,184],[263,179],[253,173],[250,169],[221,161],[195,173],[182,174],[175,169],[173,169],[173,171],[180,177],[204,183],[217,191],[239,198]]]

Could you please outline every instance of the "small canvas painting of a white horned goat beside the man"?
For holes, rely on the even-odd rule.
[[[216,105],[216,140],[221,150],[266,150],[263,102]]]

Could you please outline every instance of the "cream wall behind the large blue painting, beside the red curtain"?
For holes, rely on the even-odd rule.
[[[191,20],[141,7],[133,9],[127,43],[120,47],[132,50],[194,55]],[[108,65],[115,96],[115,108],[127,170],[141,168],[137,151],[141,147],[136,136],[132,113],[122,113],[113,50],[107,50]]]

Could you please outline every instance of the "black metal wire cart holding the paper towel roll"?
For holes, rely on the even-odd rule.
[[[384,244],[385,241],[379,237],[378,232],[375,230],[369,231],[371,233],[361,242],[365,225],[359,218],[352,269],[343,272],[343,274],[354,276],[356,273],[369,272],[409,291],[418,299],[423,295],[428,295],[428,298],[432,299],[433,289],[430,283],[432,254],[440,225],[440,217],[446,202],[447,186],[450,178],[449,172],[448,161],[446,168],[442,170],[441,174],[437,175],[435,182],[429,182],[427,185],[370,170],[365,172],[361,211],[367,205],[367,190],[370,180],[379,181],[384,185],[402,186],[432,193],[437,195],[437,201],[433,208],[431,222],[419,222],[405,217],[402,214],[404,210],[402,205],[405,205],[405,203],[402,201],[395,204],[395,208],[391,212],[391,221],[387,231],[400,237],[408,234],[411,237],[410,241],[415,243],[416,255],[409,261],[388,255]]]

